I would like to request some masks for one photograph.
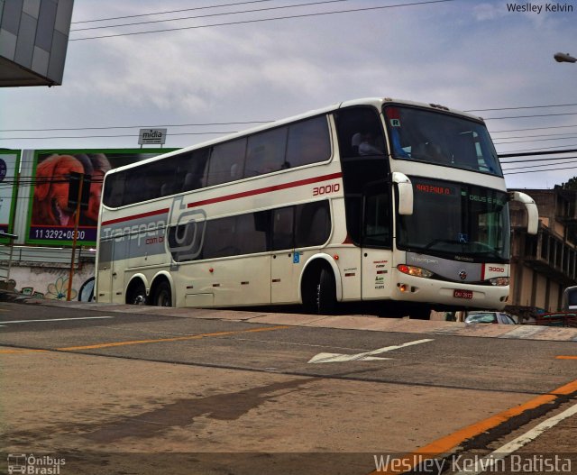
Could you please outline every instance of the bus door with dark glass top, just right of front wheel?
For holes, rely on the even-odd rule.
[[[389,298],[392,268],[390,187],[367,187],[362,218],[362,299]]]

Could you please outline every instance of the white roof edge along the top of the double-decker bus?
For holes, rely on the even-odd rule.
[[[314,110],[307,111],[306,113],[303,113],[303,114],[293,115],[290,117],[286,117],[284,119],[279,119],[277,121],[264,123],[262,125],[251,127],[249,129],[245,129],[245,130],[240,131],[240,132],[228,133],[226,135],[222,135],[222,136],[220,136],[216,139],[212,139],[210,141],[200,142],[200,143],[197,143],[195,145],[183,147],[183,148],[178,149],[176,151],[170,151],[168,153],[163,153],[161,155],[151,157],[150,159],[136,161],[134,163],[124,165],[122,167],[111,169],[107,173],[114,173],[116,171],[122,171],[123,169],[131,169],[131,168],[137,167],[143,163],[148,163],[148,162],[151,162],[154,160],[164,159],[166,157],[171,157],[173,155],[179,155],[179,154],[181,154],[183,152],[187,152],[187,151],[195,151],[197,149],[210,147],[211,145],[215,145],[216,143],[227,142],[230,140],[234,140],[236,138],[243,137],[245,135],[250,135],[252,133],[266,131],[268,129],[271,129],[274,127],[279,127],[279,126],[287,124],[287,123],[293,123],[293,122],[297,122],[299,120],[307,119],[308,117],[314,117],[315,115],[328,114],[330,112],[334,112],[334,111],[341,109],[343,107],[352,107],[354,105],[373,105],[374,107],[380,109],[382,107],[382,105],[385,105],[388,103],[398,104],[398,105],[413,105],[416,107],[422,107],[422,108],[426,108],[426,109],[430,109],[430,110],[434,110],[434,111],[441,110],[444,112],[449,112],[451,114],[461,115],[463,117],[466,117],[468,119],[472,119],[472,120],[477,121],[477,122],[479,122],[479,121],[483,122],[483,119],[481,117],[479,117],[478,115],[468,114],[466,112],[459,111],[456,109],[450,109],[449,107],[445,107],[444,105],[425,104],[425,103],[420,103],[420,102],[407,101],[407,100],[403,100],[403,99],[393,99],[390,97],[364,97],[364,98],[360,98],[360,99],[343,101],[341,103],[336,103],[333,105],[327,105],[327,106],[322,107],[320,109],[314,109]]]

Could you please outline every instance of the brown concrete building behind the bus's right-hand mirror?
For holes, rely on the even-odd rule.
[[[510,203],[510,310],[561,308],[563,288],[577,285],[577,190],[523,189],[536,201],[539,231],[528,235],[525,209]]]

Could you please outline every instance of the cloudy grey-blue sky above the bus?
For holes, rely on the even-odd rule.
[[[480,115],[499,154],[577,149],[576,24],[577,0],[76,0],[62,85],[0,88],[0,148],[185,147],[386,96]],[[501,162],[510,188],[577,176],[577,152]]]

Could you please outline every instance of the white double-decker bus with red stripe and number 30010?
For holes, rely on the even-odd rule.
[[[508,194],[482,119],[390,98],[332,105],[105,176],[96,299],[501,309]]]

